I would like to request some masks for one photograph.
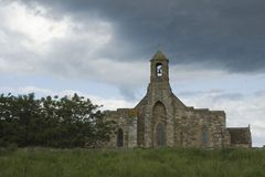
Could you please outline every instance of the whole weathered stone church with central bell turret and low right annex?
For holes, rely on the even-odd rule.
[[[147,94],[134,108],[106,112],[117,123],[108,146],[251,147],[250,126],[226,128],[223,111],[188,107],[172,93],[168,62],[153,55]]]

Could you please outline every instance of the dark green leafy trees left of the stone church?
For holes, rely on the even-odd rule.
[[[114,125],[99,107],[77,94],[40,100],[34,94],[1,94],[0,146],[99,146],[109,139]]]

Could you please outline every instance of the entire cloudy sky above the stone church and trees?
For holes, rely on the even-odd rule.
[[[0,93],[132,107],[161,49],[188,106],[265,144],[264,0],[0,0]]]

